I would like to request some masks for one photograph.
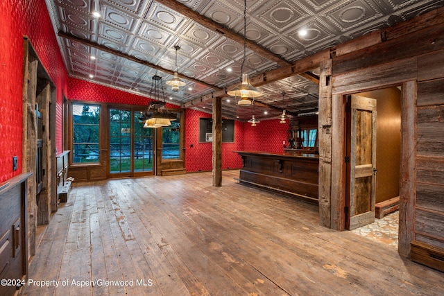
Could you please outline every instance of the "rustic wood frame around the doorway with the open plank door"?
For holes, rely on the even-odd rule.
[[[372,73],[381,73],[375,70]],[[348,73],[351,77],[356,73]],[[359,77],[359,76],[358,76]],[[344,230],[345,227],[345,108],[346,95],[366,92],[374,89],[386,89],[402,86],[401,97],[401,166],[400,166],[400,230],[398,236],[398,252],[404,256],[410,254],[410,243],[414,238],[414,207],[416,188],[416,77],[399,81],[400,77],[393,74],[393,79],[381,85],[375,80],[374,85],[368,81],[351,83],[350,92],[334,92],[332,94],[332,177],[331,184],[331,228]],[[405,78],[405,77],[404,77]],[[398,80],[398,81],[397,81]],[[333,87],[334,88],[334,87]],[[321,106],[320,106],[321,109]],[[321,147],[320,147],[321,149]],[[321,153],[321,152],[320,152]]]

